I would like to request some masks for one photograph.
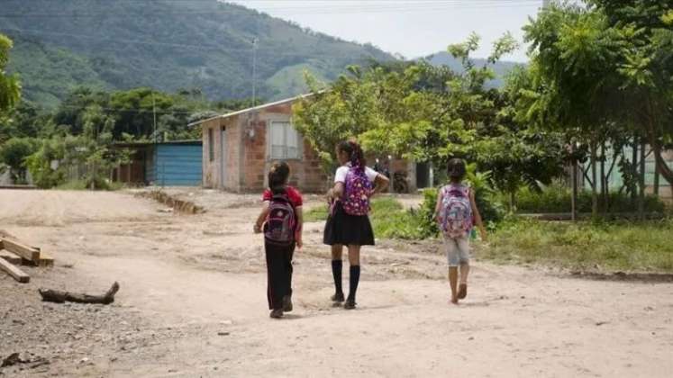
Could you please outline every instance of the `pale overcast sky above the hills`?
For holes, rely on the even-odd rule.
[[[511,31],[522,42],[522,26],[542,0],[228,0],[314,31],[370,42],[405,58],[445,50],[470,31],[482,37],[475,57],[486,57],[494,40]],[[523,46],[507,60],[525,61]]]

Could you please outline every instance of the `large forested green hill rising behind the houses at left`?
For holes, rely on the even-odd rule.
[[[260,97],[304,90],[303,71],[332,79],[370,45],[217,0],[3,0],[0,32],[14,40],[9,70],[23,95],[54,105],[75,85],[107,89],[199,88],[212,100],[252,93],[252,40]]]

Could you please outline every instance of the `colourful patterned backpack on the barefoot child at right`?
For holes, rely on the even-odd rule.
[[[441,193],[441,230],[449,238],[464,237],[472,229],[469,187],[462,184],[448,184],[442,188]]]

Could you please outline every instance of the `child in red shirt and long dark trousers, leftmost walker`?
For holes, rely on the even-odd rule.
[[[265,232],[264,252],[267,257],[267,299],[271,318],[281,318],[292,311],[292,257],[295,247],[302,247],[302,194],[287,185],[290,168],[287,163],[274,163],[268,172],[268,189],[262,194],[264,206],[255,223],[255,233]],[[274,214],[270,214],[271,209]],[[286,221],[293,224],[287,234]],[[270,225],[270,226],[269,226]],[[273,229],[276,228],[274,233]]]

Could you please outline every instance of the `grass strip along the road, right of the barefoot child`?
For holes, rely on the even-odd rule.
[[[673,272],[673,220],[548,222],[510,220],[481,257],[579,270]]]

